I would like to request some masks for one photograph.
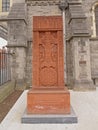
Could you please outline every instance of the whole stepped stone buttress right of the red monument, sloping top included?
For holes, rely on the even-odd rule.
[[[74,2],[74,4],[73,4]],[[95,89],[91,79],[90,42],[86,16],[82,10],[82,3],[69,0],[69,34],[68,44],[71,47],[72,74],[71,85],[75,90]]]

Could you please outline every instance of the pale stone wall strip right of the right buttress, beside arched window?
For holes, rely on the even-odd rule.
[[[98,38],[95,36],[94,27],[94,12],[93,6],[98,4],[96,0],[83,0],[83,9],[87,17],[87,23],[89,27],[89,32],[91,34],[90,38],[90,55],[91,55],[91,77],[93,79],[94,85],[98,86]]]

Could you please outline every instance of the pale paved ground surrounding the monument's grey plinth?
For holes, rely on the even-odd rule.
[[[96,91],[71,90],[71,105],[78,117],[76,124],[22,124],[26,109],[27,91],[24,91],[0,124],[0,130],[98,130],[98,87]]]

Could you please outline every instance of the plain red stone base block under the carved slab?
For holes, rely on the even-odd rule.
[[[69,114],[70,93],[59,90],[30,90],[27,94],[28,114]]]

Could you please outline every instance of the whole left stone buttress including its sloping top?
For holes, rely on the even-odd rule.
[[[8,48],[11,56],[11,77],[17,89],[26,88],[26,12],[25,3],[14,3],[8,15]]]

